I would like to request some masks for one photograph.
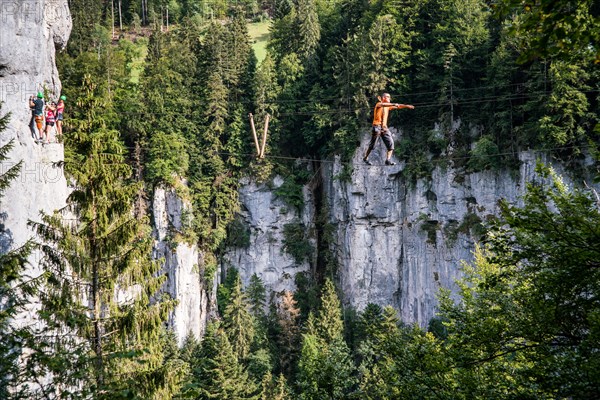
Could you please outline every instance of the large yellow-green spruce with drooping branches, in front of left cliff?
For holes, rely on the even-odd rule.
[[[158,294],[164,277],[151,261],[150,229],[133,214],[138,184],[95,90],[86,81],[66,142],[66,170],[77,182],[67,207],[32,223],[48,274],[40,315],[56,335],[36,350],[52,355],[41,365],[63,396],[151,398],[162,390],[160,333],[174,303]]]

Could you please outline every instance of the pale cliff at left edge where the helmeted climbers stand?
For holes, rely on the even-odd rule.
[[[8,129],[0,133],[0,145],[14,139],[14,148],[0,165],[0,172],[23,161],[20,175],[0,200],[0,222],[5,228],[0,251],[31,238],[27,221],[39,220],[40,211],[52,213],[65,205],[68,190],[62,169],[63,146],[34,143],[28,100],[44,90],[53,99],[59,96],[55,51],[66,44],[71,26],[66,0],[0,2],[0,114],[11,114]],[[30,275],[40,272],[37,257],[32,256]]]

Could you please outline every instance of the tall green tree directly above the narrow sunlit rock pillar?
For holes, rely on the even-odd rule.
[[[191,89],[196,55],[190,43],[193,38],[188,36],[193,33],[180,28],[170,33],[155,31],[148,43],[140,78],[141,110],[136,111],[144,113],[138,140],[142,157],[148,159],[145,178],[152,184],[175,186],[188,175],[188,140],[198,134]]]

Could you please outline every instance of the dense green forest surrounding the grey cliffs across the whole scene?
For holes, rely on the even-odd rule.
[[[197,244],[199,273],[214,279],[223,246],[248,240],[235,229],[240,178],[284,176],[278,195],[297,206],[311,173],[295,160],[349,160],[383,91],[415,105],[390,124],[402,129],[395,156],[408,181],[436,166],[515,168],[528,149],[594,174],[597,2],[69,6],[74,27],[57,62],[74,191],[64,210],[31,223],[41,243],[0,256],[1,398],[597,398],[600,200],[545,166],[523,206],[503,204],[490,221],[458,300],[441,290],[427,329],[391,307],[342,309],[325,254],[316,273],[296,277],[297,293],[274,297],[230,270],[218,318],[180,347],[166,329],[174,300],[160,290],[147,204],[159,185],[193,204],[172,240]],[[270,21],[260,61],[248,34],[259,20]],[[259,127],[270,115],[264,159],[249,113]],[[17,170],[0,176],[0,195]],[[34,281],[23,275],[33,247],[45,271]],[[12,327],[34,297],[43,324]]]

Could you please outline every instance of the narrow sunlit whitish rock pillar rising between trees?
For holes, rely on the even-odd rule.
[[[186,213],[191,205],[184,202],[174,189],[159,187],[154,191],[152,214],[154,218],[154,258],[164,262],[167,276],[165,290],[178,301],[169,317],[169,326],[175,332],[179,344],[188,334],[200,338],[206,328],[206,320],[215,299],[209,298],[202,271],[200,253],[196,245],[176,241],[181,232]]]

